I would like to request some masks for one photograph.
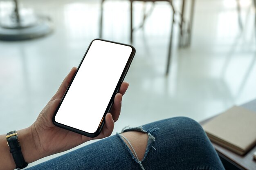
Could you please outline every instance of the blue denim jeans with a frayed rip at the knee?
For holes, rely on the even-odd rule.
[[[28,170],[225,170],[202,127],[190,118],[174,117],[123,131],[148,134],[142,161],[117,133]]]

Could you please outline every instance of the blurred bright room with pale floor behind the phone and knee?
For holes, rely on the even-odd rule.
[[[129,0],[19,0],[17,7],[21,24],[15,1],[0,0],[0,134],[36,120],[94,38],[131,44]],[[112,134],[169,117],[202,121],[255,99],[255,21],[254,0],[134,1],[137,52]]]

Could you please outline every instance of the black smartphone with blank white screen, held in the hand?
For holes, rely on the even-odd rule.
[[[92,40],[54,113],[53,123],[88,137],[99,135],[134,55],[131,45]]]

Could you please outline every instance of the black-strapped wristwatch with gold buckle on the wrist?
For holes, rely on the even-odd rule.
[[[6,134],[6,141],[7,145],[10,147],[10,152],[16,164],[16,169],[20,170],[27,167],[27,162],[24,160],[21,152],[20,142],[18,140],[18,134],[16,130]]]

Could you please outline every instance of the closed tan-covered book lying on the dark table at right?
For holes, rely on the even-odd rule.
[[[209,139],[239,155],[256,145],[256,113],[233,106],[203,126]]]

